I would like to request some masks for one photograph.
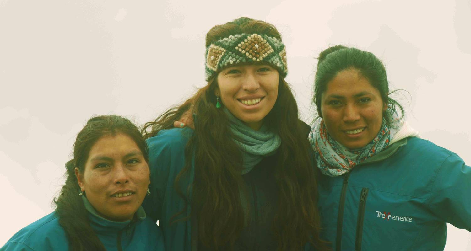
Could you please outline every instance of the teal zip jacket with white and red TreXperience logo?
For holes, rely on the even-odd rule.
[[[443,251],[447,225],[471,231],[471,167],[404,138],[340,177],[322,176],[323,238],[333,250]]]

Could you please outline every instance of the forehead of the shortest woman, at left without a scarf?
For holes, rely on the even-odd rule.
[[[97,140],[90,148],[89,159],[93,156],[122,156],[140,149],[136,142],[126,134],[106,135]]]

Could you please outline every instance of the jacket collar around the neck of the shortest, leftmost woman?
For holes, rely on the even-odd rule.
[[[85,209],[89,212],[90,226],[97,232],[97,234],[114,234],[114,232],[120,231],[126,227],[134,227],[136,223],[146,219],[146,212],[140,206],[138,211],[134,214],[133,219],[126,221],[112,221],[101,217],[98,212],[90,204],[89,200],[85,196],[81,196]]]

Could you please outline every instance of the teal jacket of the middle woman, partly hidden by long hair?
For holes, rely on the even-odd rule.
[[[309,127],[307,131],[309,131]],[[158,135],[147,139],[149,146],[149,167],[151,169],[151,194],[146,196],[142,206],[148,216],[159,220],[167,250],[195,251],[198,247],[196,235],[197,219],[188,219],[171,224],[172,217],[184,210],[177,219],[189,217],[191,208],[185,209],[185,200],[177,194],[174,181],[185,166],[185,146],[192,136],[191,129],[161,130]],[[306,132],[307,134],[307,132]],[[271,171],[276,154],[264,158],[250,172],[243,175],[245,186],[249,188],[247,202],[250,203],[251,220],[257,223],[244,227],[235,243],[235,250],[276,250],[276,241],[271,236],[274,201],[277,195],[275,178]],[[180,180],[182,192],[187,193],[187,186],[194,179],[194,163],[186,176]],[[185,194],[189,202],[191,191]],[[260,224],[260,222],[262,222]],[[251,222],[253,223],[253,222]],[[306,246],[306,250],[309,249]]]

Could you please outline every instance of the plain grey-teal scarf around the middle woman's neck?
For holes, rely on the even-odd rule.
[[[281,145],[280,136],[268,130],[268,126],[262,125],[256,131],[237,119],[232,113],[223,108],[230,121],[230,129],[234,134],[234,141],[242,151],[242,174],[246,174],[258,164],[263,157],[275,154]]]

